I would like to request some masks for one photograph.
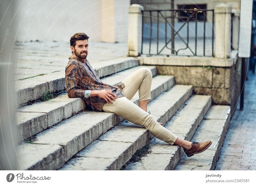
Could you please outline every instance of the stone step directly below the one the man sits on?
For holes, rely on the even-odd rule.
[[[156,76],[151,86],[152,100],[173,86],[172,76]],[[175,87],[175,86],[174,86]],[[177,93],[176,93],[177,94]],[[137,96],[137,97],[136,97]],[[135,94],[138,105],[139,95]],[[134,100],[133,99],[133,100]],[[149,100],[150,103],[152,100]],[[56,170],[74,154],[123,120],[113,113],[80,112],[50,129],[40,132],[33,142],[18,145],[20,169]]]

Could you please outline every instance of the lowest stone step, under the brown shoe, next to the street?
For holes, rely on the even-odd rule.
[[[191,157],[183,154],[174,170],[214,170],[229,124],[230,106],[212,106],[192,138],[192,141],[211,140],[212,145]]]

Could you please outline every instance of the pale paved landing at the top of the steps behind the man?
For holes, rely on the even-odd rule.
[[[69,42],[16,42],[14,47],[14,72],[17,80],[65,71],[68,57],[71,56]],[[97,65],[96,62],[103,63],[118,57],[126,57],[126,52],[126,43],[91,43],[89,41],[88,60],[94,68]]]

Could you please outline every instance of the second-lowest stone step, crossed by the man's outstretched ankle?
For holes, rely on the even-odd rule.
[[[179,138],[190,141],[210,106],[211,96],[193,95],[165,127]],[[125,165],[122,170],[173,170],[184,153],[182,147],[166,144],[155,137],[149,146],[151,152],[147,156]]]

